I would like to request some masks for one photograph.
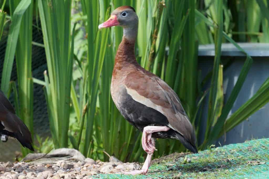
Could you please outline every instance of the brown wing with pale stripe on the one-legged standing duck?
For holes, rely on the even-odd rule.
[[[167,117],[168,127],[181,134],[195,146],[196,137],[192,124],[174,90],[161,78],[145,70],[129,73],[124,81],[132,98]]]

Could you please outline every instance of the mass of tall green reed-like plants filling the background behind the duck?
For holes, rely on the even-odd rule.
[[[26,2],[30,2],[27,7]],[[39,152],[49,150],[44,146],[70,147],[93,159],[107,160],[103,153],[106,151],[122,161],[144,160],[146,153],[141,147],[141,133],[123,119],[110,95],[114,57],[122,39],[122,28],[98,30],[98,24],[122,5],[133,6],[139,17],[136,43],[138,62],[164,79],[179,95],[196,128],[197,138],[200,137],[201,116],[207,113],[205,138],[199,144],[199,149],[214,144],[225,132],[269,101],[268,78],[252,98],[228,117],[253,60],[246,54],[232,93],[225,96],[226,103],[222,78],[229,62],[221,60],[221,44],[224,42],[234,44],[243,53],[236,42],[269,42],[269,4],[266,0],[17,0],[16,3],[9,2],[9,13],[12,15],[9,34],[16,37],[19,33],[19,36],[18,41],[12,38],[15,41],[10,49],[8,44],[5,64],[13,64],[17,46],[16,60],[21,58],[19,63],[25,64],[22,68],[27,67],[27,72],[24,72],[26,76],[20,75],[17,69],[17,75],[24,78],[24,81],[18,81],[19,102],[24,104],[23,101],[27,101],[25,105],[29,105],[29,116],[32,115],[33,79],[31,66],[27,64],[31,64],[29,54],[32,40],[30,33],[24,33],[31,28],[33,10],[30,9],[33,7],[38,9],[39,14],[34,12],[36,16],[39,15],[44,37],[48,72],[44,73],[45,81],[34,79],[34,83],[45,86],[51,138],[44,141],[36,137]],[[23,17],[15,16],[15,7],[24,9]],[[0,13],[0,30],[1,22],[5,21],[1,19],[3,14]],[[22,18],[20,32],[12,28],[17,20],[15,17]],[[22,42],[25,42],[23,47],[20,45]],[[215,44],[213,68],[201,79],[198,45],[210,43]],[[3,74],[11,73],[11,67],[4,65],[4,68],[8,73],[2,73],[1,89],[10,92],[10,78],[6,79]],[[209,88],[206,87],[207,83],[210,84]],[[10,87],[16,89],[15,83],[11,84]],[[21,97],[21,89],[27,90],[24,94],[28,100]],[[206,95],[209,96],[208,104],[204,100]],[[203,110],[204,105],[208,105],[208,111]],[[21,119],[26,119],[19,109],[16,108],[16,111]],[[29,117],[24,121],[33,131],[31,120]],[[185,151],[175,140],[157,139],[157,148],[154,157]]]

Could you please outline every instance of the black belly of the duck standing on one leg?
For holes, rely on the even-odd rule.
[[[168,120],[159,111],[135,101],[126,89],[119,92],[120,101],[116,105],[122,116],[140,131],[146,126],[167,126]],[[153,138],[176,138],[174,130],[153,133]]]

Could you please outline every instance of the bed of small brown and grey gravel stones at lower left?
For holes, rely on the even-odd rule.
[[[38,160],[26,162],[0,162],[0,179],[27,178],[92,178],[99,173],[111,174],[141,169],[138,163],[101,162],[86,158],[84,160],[62,159],[42,163]]]

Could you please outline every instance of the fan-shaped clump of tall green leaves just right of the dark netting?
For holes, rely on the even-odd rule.
[[[74,35],[71,37],[71,0],[38,0],[48,74],[45,96],[55,148],[68,147],[70,91],[73,72]],[[75,25],[73,28],[74,34]]]

